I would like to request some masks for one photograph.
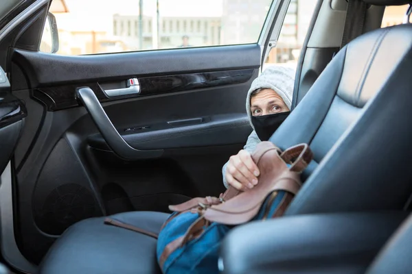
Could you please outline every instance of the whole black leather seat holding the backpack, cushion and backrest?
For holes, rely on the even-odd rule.
[[[353,40],[279,127],[271,138],[277,146],[307,142],[314,151],[304,174],[308,179],[287,214],[404,207],[412,192],[412,169],[402,161],[412,152],[407,145],[412,140],[411,48],[411,25]],[[116,216],[153,232],[166,217],[158,212]],[[159,273],[155,248],[148,236],[104,225],[103,218],[89,219],[60,236],[41,273]]]

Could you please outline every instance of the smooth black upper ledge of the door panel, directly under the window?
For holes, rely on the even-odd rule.
[[[38,88],[70,82],[93,82],[96,79],[126,80],[136,75],[160,76],[170,72],[183,74],[256,69],[260,66],[260,46],[251,44],[80,56],[17,49],[14,50],[13,60],[24,67],[31,87]]]

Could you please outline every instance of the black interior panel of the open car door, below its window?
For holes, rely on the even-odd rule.
[[[222,165],[252,130],[244,100],[258,75],[260,47],[85,56],[14,49],[10,67],[13,94],[36,114],[27,116],[36,126],[23,129],[15,164],[24,186],[19,246],[38,262],[56,236],[82,219],[168,212],[170,204],[224,191]],[[124,88],[134,77],[138,95],[106,96],[104,89]],[[128,145],[163,153],[148,160],[114,153],[76,99],[84,86]]]

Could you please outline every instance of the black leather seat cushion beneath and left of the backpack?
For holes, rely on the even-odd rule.
[[[168,214],[127,212],[113,217],[159,233]],[[103,221],[104,218],[87,219],[69,227],[45,256],[40,273],[161,273],[156,260],[155,238],[104,225]]]

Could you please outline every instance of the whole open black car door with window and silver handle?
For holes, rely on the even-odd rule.
[[[26,2],[31,5],[3,40],[8,55],[0,62],[28,113],[12,161],[12,231],[25,258],[38,263],[82,219],[168,212],[170,204],[225,189],[222,165],[252,130],[244,108],[247,90],[266,59],[269,37],[279,35],[289,1],[210,1],[222,3],[220,21],[193,7],[190,16],[180,12],[179,20],[157,16],[161,8],[152,17],[112,12],[114,38],[64,28],[96,25],[93,16],[60,16],[58,29],[58,13],[70,13],[70,1]],[[160,1],[160,7],[170,2]],[[94,3],[96,9],[106,5]],[[89,10],[85,2],[77,5]],[[49,8],[58,10],[56,17]],[[115,5],[107,4],[105,12],[110,8]],[[177,32],[169,40],[168,28]],[[206,36],[196,29],[206,29]]]

